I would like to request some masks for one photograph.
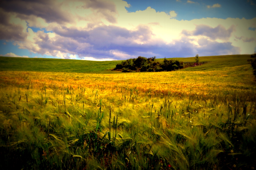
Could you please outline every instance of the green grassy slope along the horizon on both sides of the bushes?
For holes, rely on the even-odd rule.
[[[222,55],[199,57],[200,62],[207,62],[200,67],[190,67],[181,71],[202,71],[225,69],[223,67],[234,67],[248,64],[250,55]],[[174,58],[183,62],[194,62],[195,57]],[[161,62],[163,59],[157,59]],[[119,73],[111,72],[121,61],[84,61],[65,59],[43,59],[43,58],[13,58],[0,57],[0,71],[37,71],[37,72],[68,72],[68,73]]]

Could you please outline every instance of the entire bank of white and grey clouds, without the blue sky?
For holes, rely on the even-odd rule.
[[[239,54],[250,53],[249,47],[255,46],[256,35],[248,28],[255,27],[256,18],[179,21],[175,19],[175,11],[157,12],[148,7],[128,12],[126,8],[130,5],[122,0],[28,1],[28,6],[20,9],[12,6],[13,2],[16,0],[0,2],[6,7],[3,10],[0,7],[4,16],[0,18],[1,38],[31,53],[63,59]],[[40,4],[56,8],[50,12],[53,16],[45,14]],[[30,27],[40,31],[34,32]]]

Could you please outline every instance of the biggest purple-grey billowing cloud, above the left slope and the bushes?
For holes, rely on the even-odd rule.
[[[143,44],[156,44],[157,38],[147,25],[138,25],[134,30],[128,30],[117,26],[100,26],[89,31],[56,27],[55,33],[44,31],[33,32],[28,28],[28,39],[26,42],[16,42],[22,49],[29,49],[33,53],[47,54],[69,59],[69,53],[77,54],[78,57],[101,57],[111,56],[116,59],[123,59],[124,56],[131,56],[128,53],[136,53],[138,48],[143,49]],[[30,38],[33,37],[33,38]],[[99,38],[100,37],[100,38]],[[152,41],[153,40],[153,41]],[[140,46],[138,46],[140,45]],[[104,50],[102,50],[104,49]],[[123,51],[124,53],[120,53]],[[63,53],[63,54],[61,54]]]

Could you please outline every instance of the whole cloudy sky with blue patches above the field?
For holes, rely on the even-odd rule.
[[[1,0],[0,56],[126,60],[252,54],[256,0]]]

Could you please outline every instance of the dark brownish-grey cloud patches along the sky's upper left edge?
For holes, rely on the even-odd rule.
[[[57,2],[53,0],[1,0],[0,9],[7,12],[16,13],[17,17],[27,18],[28,16],[36,16],[45,19],[47,23],[56,22],[58,24],[73,23],[74,17],[68,10],[63,10],[69,2]],[[104,0],[86,0],[80,1],[83,5],[76,8],[92,9],[95,13],[100,13],[110,23],[116,23],[116,6],[113,2]],[[80,17],[81,19],[81,17]],[[88,19],[88,18],[83,18]]]

